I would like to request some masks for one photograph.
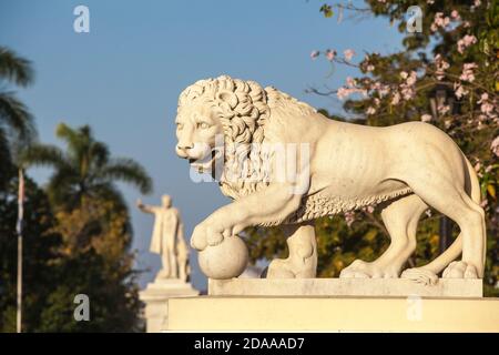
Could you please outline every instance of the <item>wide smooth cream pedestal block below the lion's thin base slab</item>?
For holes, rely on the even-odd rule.
[[[499,298],[170,298],[169,331],[499,332]]]

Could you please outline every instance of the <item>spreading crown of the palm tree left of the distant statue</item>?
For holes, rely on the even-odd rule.
[[[55,135],[67,144],[65,150],[50,144],[33,144],[21,155],[27,166],[54,169],[48,193],[54,206],[71,210],[82,199],[104,199],[124,207],[124,201],[114,181],[132,184],[142,193],[152,190],[151,178],[131,159],[110,158],[108,146],[95,141],[90,126],[71,129],[60,123]]]

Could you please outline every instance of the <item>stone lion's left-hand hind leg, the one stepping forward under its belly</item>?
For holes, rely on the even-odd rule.
[[[339,277],[396,278],[416,248],[416,230],[428,205],[411,194],[390,201],[381,211],[381,219],[390,236],[390,245],[374,262],[360,260],[342,271]]]

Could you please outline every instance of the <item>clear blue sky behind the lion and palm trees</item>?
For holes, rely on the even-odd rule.
[[[356,2],[356,1],[354,1]],[[330,67],[312,50],[352,48],[395,52],[400,36],[387,20],[325,19],[323,1],[118,1],[0,0],[0,45],[32,60],[37,78],[20,90],[35,115],[40,140],[57,143],[59,122],[90,124],[116,156],[141,162],[154,181],[142,196],[120,185],[130,205],[138,266],[150,268],[144,285],[160,267],[149,253],[153,219],[134,201],[157,204],[173,196],[190,236],[196,223],[228,200],[213,183],[194,183],[187,163],[174,153],[174,116],[180,92],[196,80],[220,74],[274,85],[316,108],[337,111],[329,98],[305,93],[314,85],[338,87],[355,71]],[[90,9],[90,33],[73,31],[73,9]],[[354,59],[354,61],[355,61]],[[327,78],[326,78],[327,77]],[[49,171],[30,172],[40,183]],[[193,253],[193,282],[205,287]]]

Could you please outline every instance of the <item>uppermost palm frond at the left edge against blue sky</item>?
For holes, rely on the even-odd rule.
[[[0,79],[27,87],[33,82],[33,78],[34,71],[29,60],[18,57],[6,47],[0,47]]]

